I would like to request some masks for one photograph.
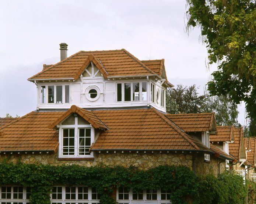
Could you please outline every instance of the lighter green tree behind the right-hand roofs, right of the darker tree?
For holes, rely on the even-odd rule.
[[[210,97],[207,95],[202,109],[203,112],[215,112],[216,123],[219,126],[241,126],[238,123],[239,111],[237,105],[230,101],[227,96]]]

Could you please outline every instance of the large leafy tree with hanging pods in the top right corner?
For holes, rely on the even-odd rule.
[[[187,31],[199,26],[208,48],[209,64],[218,71],[208,82],[211,96],[245,101],[256,119],[256,1],[187,0]]]

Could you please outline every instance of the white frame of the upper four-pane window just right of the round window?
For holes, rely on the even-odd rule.
[[[130,83],[131,84],[131,100],[130,101],[125,101],[125,83]],[[140,97],[139,97],[138,101],[133,100],[133,83],[139,83],[140,84],[140,89],[139,89]],[[131,103],[131,102],[147,101],[147,97],[146,97],[145,100],[142,100],[142,83],[143,82],[138,82],[138,81],[116,82],[116,94],[115,94],[116,103],[127,103],[127,102]],[[148,82],[144,82],[144,83],[148,83]],[[122,100],[121,101],[118,101],[118,84],[121,84],[121,89],[122,89]],[[148,94],[148,90],[147,90],[147,94]]]

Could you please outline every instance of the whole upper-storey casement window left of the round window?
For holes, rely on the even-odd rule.
[[[44,85],[41,86],[41,104],[64,104],[70,103],[69,85]]]

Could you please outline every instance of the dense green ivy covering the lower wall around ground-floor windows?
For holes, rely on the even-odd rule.
[[[82,167],[79,165],[42,165],[0,163],[0,185],[31,187],[31,204],[50,204],[53,185],[85,185],[95,187],[101,195],[101,204],[115,204],[111,197],[119,186],[144,189],[171,190],[173,204],[185,203],[243,203],[248,188],[241,176],[224,173],[194,176],[184,166],[158,166],[149,170],[135,167]]]

